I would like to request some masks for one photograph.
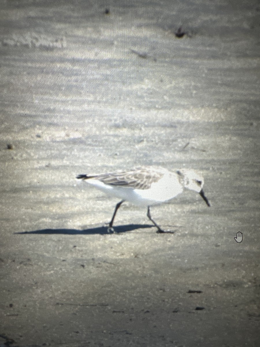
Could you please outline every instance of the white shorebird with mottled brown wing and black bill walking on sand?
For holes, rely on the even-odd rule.
[[[115,171],[99,175],[78,175],[77,178],[86,180],[97,189],[110,196],[118,197],[121,201],[115,206],[115,210],[107,231],[114,231],[113,221],[117,210],[124,201],[137,206],[147,206],[147,217],[157,228],[162,230],[150,215],[150,206],[167,202],[176,195],[182,193],[183,188],[190,189],[200,194],[208,206],[202,187],[203,178],[194,170],[181,169],[171,172],[164,168],[138,167],[129,171]]]

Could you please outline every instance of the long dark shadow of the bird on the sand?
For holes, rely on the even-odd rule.
[[[141,228],[154,228],[153,225],[142,225],[142,224],[128,224],[128,225],[119,225],[117,227],[113,227],[116,234],[121,234],[122,232],[132,231]],[[33,230],[33,231],[20,231],[14,232],[14,234],[63,234],[63,235],[109,235],[113,234],[113,232],[108,232],[107,227],[97,227],[97,228],[89,228],[89,229],[41,229],[41,230]]]

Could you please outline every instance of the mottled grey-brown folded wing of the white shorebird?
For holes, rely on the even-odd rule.
[[[96,179],[111,186],[132,187],[135,189],[149,189],[151,184],[163,177],[162,172],[137,168],[130,171],[118,171],[97,175]]]

